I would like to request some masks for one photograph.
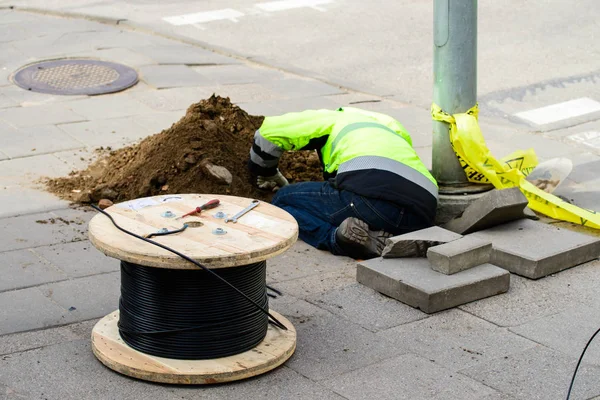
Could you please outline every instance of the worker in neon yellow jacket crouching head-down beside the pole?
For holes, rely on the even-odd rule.
[[[317,150],[325,182],[288,185],[277,165],[284,151]],[[300,238],[336,255],[381,255],[393,235],[429,227],[437,207],[435,179],[404,127],[356,108],[309,110],[265,118],[250,150],[261,189],[294,216]]]

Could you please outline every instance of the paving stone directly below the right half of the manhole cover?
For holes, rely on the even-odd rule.
[[[64,104],[87,120],[111,119],[149,114],[152,109],[129,96],[94,96]]]

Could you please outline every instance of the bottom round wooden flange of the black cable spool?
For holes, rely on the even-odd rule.
[[[92,349],[107,367],[124,375],[152,382],[210,384],[236,381],[277,368],[296,349],[296,330],[282,315],[270,311],[288,328],[269,325],[265,339],[252,350],[211,360],[175,360],[156,357],[129,347],[121,339],[119,311],[102,318],[92,331]]]

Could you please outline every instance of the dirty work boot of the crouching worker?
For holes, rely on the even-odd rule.
[[[346,218],[335,232],[335,242],[352,258],[367,260],[379,257],[385,240],[392,235],[384,231],[372,231],[369,225],[358,218]]]

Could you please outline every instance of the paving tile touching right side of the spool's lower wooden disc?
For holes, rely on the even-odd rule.
[[[298,332],[296,354],[286,365],[320,381],[406,352],[374,333],[302,300],[284,296],[270,307],[285,315]]]

